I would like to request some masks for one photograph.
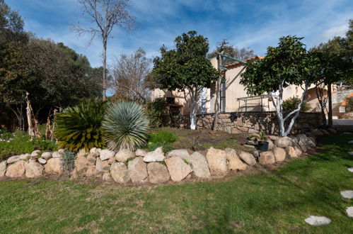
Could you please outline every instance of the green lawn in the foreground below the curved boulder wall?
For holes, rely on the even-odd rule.
[[[0,233],[349,233],[352,135],[318,155],[228,181],[122,187],[49,179],[0,182]],[[310,215],[332,223],[311,227]]]

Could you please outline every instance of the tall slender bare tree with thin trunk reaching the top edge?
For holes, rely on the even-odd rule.
[[[90,44],[96,35],[103,43],[103,101],[106,99],[107,89],[107,44],[114,26],[130,29],[134,24],[134,17],[127,11],[129,0],[79,0],[83,14],[91,17],[96,27],[81,28],[75,26],[74,31],[79,35],[91,34]]]

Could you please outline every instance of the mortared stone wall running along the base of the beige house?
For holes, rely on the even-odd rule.
[[[214,113],[197,115],[197,129],[211,129],[213,120]],[[292,132],[306,133],[322,125],[323,118],[320,113],[300,113]],[[163,126],[189,128],[190,118],[189,116],[164,116]],[[218,130],[228,133],[258,133],[260,130],[267,134],[279,133],[277,114],[274,111],[219,113],[216,126]]]

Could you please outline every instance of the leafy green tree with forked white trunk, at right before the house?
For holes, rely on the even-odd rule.
[[[268,47],[266,57],[248,63],[245,72],[241,75],[241,84],[247,88],[248,94],[267,93],[272,97],[281,136],[290,133],[294,121],[299,116],[308,87],[319,72],[318,59],[306,53],[301,39],[290,35],[279,38],[277,47]],[[284,116],[283,90],[290,84],[302,87],[303,94],[296,109]],[[274,95],[274,92],[278,92],[278,95]],[[287,120],[290,121],[286,130],[284,122]]]

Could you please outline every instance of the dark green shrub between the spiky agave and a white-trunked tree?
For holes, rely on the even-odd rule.
[[[147,106],[149,115],[149,124],[152,128],[158,128],[162,125],[163,114],[166,111],[167,101],[163,98],[157,98]]]

